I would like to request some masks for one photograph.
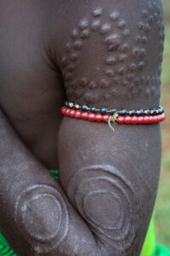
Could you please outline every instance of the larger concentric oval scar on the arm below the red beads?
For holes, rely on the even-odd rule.
[[[118,250],[132,245],[140,201],[121,172],[112,166],[82,168],[71,177],[67,195],[95,236]]]

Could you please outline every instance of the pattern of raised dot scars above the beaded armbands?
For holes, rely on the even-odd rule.
[[[111,11],[109,17],[105,17],[104,10],[96,8],[88,19],[80,20],[71,32],[71,39],[65,45],[65,55],[61,61],[68,99],[91,104],[99,102],[103,97],[109,100],[112,96],[124,96],[128,99],[141,94],[160,96],[164,42],[164,24],[160,13],[161,9],[153,0],[141,11],[139,21],[133,28],[118,10]],[[132,32],[132,29],[136,32]],[[159,54],[156,60],[158,65],[155,75],[146,76],[144,70],[149,69],[147,49],[152,30],[159,37]],[[99,38],[104,60],[101,67],[96,67],[99,70],[99,75],[95,76],[97,79],[92,80],[87,73],[82,73],[81,76],[76,72],[82,61],[82,49],[86,49],[86,42],[95,37]],[[105,88],[105,91],[100,88]]]

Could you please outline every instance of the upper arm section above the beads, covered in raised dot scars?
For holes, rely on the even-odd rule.
[[[159,104],[161,1],[74,1],[59,26],[57,61],[69,101],[99,108]]]

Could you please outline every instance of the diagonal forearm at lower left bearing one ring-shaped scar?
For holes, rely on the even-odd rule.
[[[99,255],[94,236],[59,183],[20,142],[3,113],[0,121],[0,228],[14,251]]]

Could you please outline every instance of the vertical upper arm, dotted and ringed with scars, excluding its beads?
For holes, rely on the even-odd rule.
[[[96,108],[156,108],[160,1],[81,1],[63,13],[70,22],[60,28],[65,47],[57,61],[68,100]],[[64,117],[60,181],[109,255],[139,255],[156,198],[160,127],[115,125],[115,130]]]

